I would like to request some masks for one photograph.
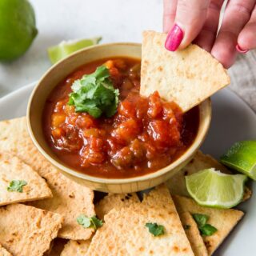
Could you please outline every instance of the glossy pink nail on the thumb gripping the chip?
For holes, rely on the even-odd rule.
[[[181,44],[183,39],[182,29],[175,24],[173,28],[169,31],[166,37],[166,50],[175,51],[178,49],[178,46]]]

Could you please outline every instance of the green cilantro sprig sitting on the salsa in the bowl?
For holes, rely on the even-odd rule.
[[[77,112],[87,112],[94,118],[102,114],[113,116],[118,108],[119,90],[114,89],[110,81],[110,72],[106,66],[98,66],[92,74],[85,74],[71,86],[69,105]]]

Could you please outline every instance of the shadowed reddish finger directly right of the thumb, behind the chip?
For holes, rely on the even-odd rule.
[[[205,24],[202,26],[201,32],[195,38],[194,43],[201,46],[204,50],[210,51],[214,45],[218,30],[219,14],[222,9],[224,0],[212,0],[207,12]]]

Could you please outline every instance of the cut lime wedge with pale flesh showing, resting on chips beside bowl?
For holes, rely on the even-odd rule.
[[[210,168],[186,176],[186,188],[199,205],[226,209],[242,201],[246,179]]]

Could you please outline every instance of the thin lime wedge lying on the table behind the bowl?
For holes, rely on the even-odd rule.
[[[98,37],[90,39],[62,41],[57,46],[51,46],[50,48],[48,48],[48,56],[50,58],[50,62],[54,64],[62,58],[66,58],[66,56],[74,53],[77,50],[81,50],[82,48],[86,48],[88,46],[94,46],[98,44],[101,39],[102,38]]]

